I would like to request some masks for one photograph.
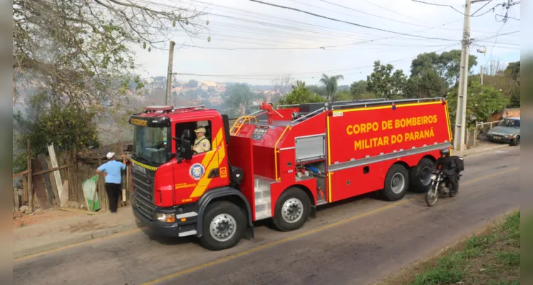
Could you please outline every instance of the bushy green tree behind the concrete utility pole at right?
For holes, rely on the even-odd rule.
[[[503,110],[509,104],[509,99],[504,98],[499,90],[490,86],[481,86],[479,81],[470,81],[467,94],[467,127],[474,125],[476,121],[487,122],[492,114]],[[448,105],[451,124],[455,125],[457,88],[448,96]]]

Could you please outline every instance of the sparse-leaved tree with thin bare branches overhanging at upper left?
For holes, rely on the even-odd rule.
[[[195,36],[200,13],[157,9],[129,0],[14,0],[14,84],[38,81],[56,105],[113,104],[123,100],[134,68],[134,45],[149,50],[175,26]]]

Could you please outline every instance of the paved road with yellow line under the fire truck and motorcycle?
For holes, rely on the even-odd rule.
[[[466,157],[460,194],[435,207],[420,195],[373,195],[319,210],[303,229],[209,252],[194,239],[143,231],[14,263],[15,284],[371,284],[519,207],[519,147]]]

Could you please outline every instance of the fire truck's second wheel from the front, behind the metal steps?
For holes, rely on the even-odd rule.
[[[274,208],[274,226],[282,232],[301,228],[311,212],[311,202],[307,194],[297,188],[290,187],[279,196]]]

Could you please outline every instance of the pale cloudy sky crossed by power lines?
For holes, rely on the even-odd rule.
[[[259,0],[338,20],[333,21],[249,0],[136,1],[152,8],[182,7],[206,13],[198,21],[209,21],[209,25],[196,38],[178,28],[172,31],[177,46],[172,66],[175,80],[254,85],[271,85],[286,75],[317,84],[322,73],[341,74],[344,80],[339,85],[349,85],[366,79],[377,60],[408,75],[411,61],[419,53],[461,48],[465,11],[462,0],[425,0],[430,4],[411,0]],[[470,54],[477,56],[478,62],[474,73],[491,60],[503,64],[520,60],[520,33],[511,32],[520,31],[521,4],[509,9],[508,16],[514,19],[504,23],[497,16],[504,14],[501,6],[490,10],[501,3],[472,4],[471,12],[481,8],[475,15],[482,15],[470,17],[471,38],[475,39]],[[160,48],[148,52],[133,47],[136,73],[143,78],[166,76],[168,46]],[[486,53],[478,53],[478,49],[486,49]]]

